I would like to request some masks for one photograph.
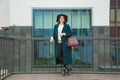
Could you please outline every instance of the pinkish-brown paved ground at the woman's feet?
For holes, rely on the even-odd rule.
[[[60,74],[14,74],[5,80],[120,80],[116,74],[71,74],[62,77]]]

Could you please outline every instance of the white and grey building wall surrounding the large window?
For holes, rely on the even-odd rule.
[[[9,8],[9,30],[0,31],[0,35],[15,36],[15,37],[31,37],[32,36],[32,9],[33,8],[91,8],[92,9],[92,27],[93,37],[109,37],[109,0],[10,0]],[[16,26],[15,26],[16,25]],[[102,65],[102,56],[104,56],[103,42],[93,41],[93,66],[95,70],[98,70],[98,62]],[[33,67],[32,59],[32,42],[31,41],[15,41],[14,42],[14,68],[17,71],[34,71],[42,70],[42,68]],[[109,41],[105,43],[107,45],[106,64],[110,64],[110,48]],[[101,52],[99,51],[100,46]],[[17,48],[18,47],[18,48]],[[26,47],[26,48],[25,48]],[[99,53],[99,54],[98,54]],[[25,55],[25,56],[24,56]],[[19,59],[19,56],[21,56]],[[96,57],[101,56],[98,61]],[[27,63],[27,64],[25,64]]]

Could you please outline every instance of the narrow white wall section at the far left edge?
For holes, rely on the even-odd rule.
[[[9,26],[9,0],[0,0],[0,29]]]

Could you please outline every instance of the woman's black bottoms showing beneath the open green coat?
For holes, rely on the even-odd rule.
[[[58,43],[56,53],[56,64],[63,64],[62,44]]]

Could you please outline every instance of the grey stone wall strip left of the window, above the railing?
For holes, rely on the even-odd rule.
[[[31,37],[31,26],[10,26],[8,30],[0,30],[0,35],[11,37]]]

